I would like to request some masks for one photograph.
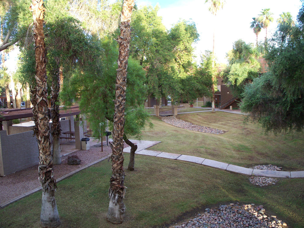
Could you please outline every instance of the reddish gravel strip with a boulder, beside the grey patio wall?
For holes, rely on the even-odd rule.
[[[128,145],[124,143],[124,147],[128,147]],[[111,153],[110,146],[103,146],[103,152],[101,152],[101,143],[91,146],[89,150],[77,150],[61,157],[60,165],[53,165],[54,177],[55,179],[60,178]],[[81,159],[81,163],[68,165],[67,156],[71,155],[77,155]],[[39,187],[38,165],[0,177],[0,204]]]

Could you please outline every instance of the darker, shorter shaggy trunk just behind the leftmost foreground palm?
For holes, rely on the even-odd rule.
[[[52,80],[52,97],[51,97],[51,114],[52,114],[52,136],[53,136],[53,163],[55,165],[61,164],[60,159],[60,143],[59,138],[61,134],[59,121],[59,84],[60,84],[59,68]]]

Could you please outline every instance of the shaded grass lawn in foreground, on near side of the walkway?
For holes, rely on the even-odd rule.
[[[226,202],[263,204],[268,215],[303,227],[304,179],[281,179],[261,188],[247,176],[183,161],[137,155],[135,166],[126,171],[123,224],[106,221],[111,163],[105,160],[58,183],[60,227],[164,227]],[[0,227],[39,227],[40,206],[37,192],[1,209]]]

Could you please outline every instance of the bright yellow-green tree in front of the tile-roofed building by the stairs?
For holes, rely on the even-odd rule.
[[[257,61],[259,52],[243,40],[237,40],[227,57],[229,65],[223,72],[224,80],[230,85],[234,96],[240,96],[244,86],[258,76],[260,64]]]

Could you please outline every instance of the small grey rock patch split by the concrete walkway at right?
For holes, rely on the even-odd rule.
[[[277,167],[275,165],[256,165],[253,169],[260,169],[260,170],[272,170],[272,171],[282,171],[282,167]],[[271,177],[249,177],[249,181],[251,184],[258,185],[258,186],[267,186],[267,185],[275,185],[278,182],[278,179],[271,178]]]

